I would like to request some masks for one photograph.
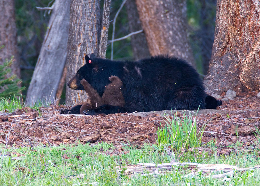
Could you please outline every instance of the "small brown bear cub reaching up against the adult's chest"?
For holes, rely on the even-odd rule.
[[[90,99],[90,103],[86,102],[80,107],[80,114],[85,114],[86,111],[96,109],[102,105],[124,107],[125,101],[121,91],[122,81],[117,76],[111,76],[108,79],[111,83],[106,86],[102,97],[85,79],[80,81]]]

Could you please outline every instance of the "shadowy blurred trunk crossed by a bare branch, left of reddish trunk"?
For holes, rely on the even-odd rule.
[[[141,30],[142,26],[139,20],[135,0],[127,0],[125,6],[128,15],[129,31],[136,32],[138,30]],[[133,57],[135,60],[140,60],[142,58],[150,56],[147,41],[145,38],[145,33],[138,33],[132,35],[131,46],[133,51]]]

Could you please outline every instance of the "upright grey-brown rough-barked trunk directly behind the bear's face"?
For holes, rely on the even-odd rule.
[[[100,41],[99,0],[72,0],[67,52],[67,82],[85,64],[85,55],[98,54]],[[86,100],[82,90],[66,87],[66,104],[76,105]]]

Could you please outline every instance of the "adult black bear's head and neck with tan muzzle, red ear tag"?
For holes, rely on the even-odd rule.
[[[102,95],[105,86],[109,84],[109,60],[97,58],[93,53],[90,57],[85,55],[85,60],[86,63],[77,71],[76,75],[67,82],[67,86],[73,90],[84,90],[80,81],[85,79]]]

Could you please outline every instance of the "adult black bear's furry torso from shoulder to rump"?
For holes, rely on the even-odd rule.
[[[202,80],[184,60],[156,56],[122,62],[122,66],[119,78],[124,84],[122,92],[128,110],[197,109],[201,103],[204,107]]]

